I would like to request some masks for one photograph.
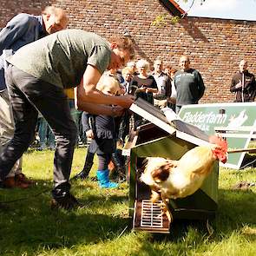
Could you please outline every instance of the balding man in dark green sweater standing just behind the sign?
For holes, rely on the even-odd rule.
[[[174,75],[174,86],[177,92],[177,114],[182,106],[197,104],[205,92],[203,79],[198,70],[190,68],[188,56],[181,56],[180,67],[181,70]]]

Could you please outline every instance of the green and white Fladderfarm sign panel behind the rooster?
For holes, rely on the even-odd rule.
[[[187,105],[181,108],[182,121],[193,124],[207,135],[215,131],[226,137],[228,148],[247,148],[256,131],[256,102]],[[228,154],[224,167],[239,169],[246,153]]]

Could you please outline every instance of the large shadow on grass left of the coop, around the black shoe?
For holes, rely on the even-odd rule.
[[[94,244],[115,239],[128,226],[126,217],[111,211],[128,200],[125,196],[115,192],[107,198],[104,194],[88,194],[80,199],[82,208],[70,212],[51,210],[52,182],[37,182],[37,187],[26,190],[1,189],[1,202],[16,201],[1,203],[0,255],[35,255],[36,250]]]

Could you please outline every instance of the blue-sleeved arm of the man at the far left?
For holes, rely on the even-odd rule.
[[[13,17],[6,27],[0,31],[0,55],[3,54],[3,49],[10,49],[12,43],[16,42],[28,30],[29,16],[19,14]]]

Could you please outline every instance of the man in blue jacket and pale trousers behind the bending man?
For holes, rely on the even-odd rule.
[[[41,16],[26,13],[14,16],[0,31],[0,153],[14,134],[13,115],[4,77],[7,69],[5,58],[28,43],[65,29],[67,23],[68,17],[61,8],[48,6]],[[3,181],[3,186],[26,188],[30,183],[22,173],[22,158],[20,158]]]

